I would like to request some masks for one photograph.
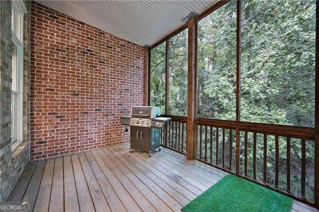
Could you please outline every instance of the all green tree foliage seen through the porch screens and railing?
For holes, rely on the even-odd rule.
[[[230,1],[198,22],[197,117],[236,119],[237,1]],[[315,124],[315,0],[243,0],[240,20],[240,120],[293,126]],[[187,102],[187,33],[169,40],[169,108],[171,115],[185,116]],[[152,105],[165,105],[165,44],[152,50]],[[163,110],[162,110],[163,111]],[[198,130],[197,155],[219,155],[221,129],[208,132],[219,140],[205,148]],[[226,129],[227,131],[228,129]],[[241,168],[244,164],[244,132],[240,133]],[[264,134],[256,135],[257,181],[263,182]],[[230,140],[235,154],[236,133],[227,131],[225,161]],[[218,143],[216,143],[218,142]],[[279,136],[279,188],[287,187],[287,138]],[[301,194],[302,140],[291,138],[291,192]],[[306,198],[314,200],[314,141],[306,142]],[[201,143],[201,145],[200,145]],[[216,152],[219,145],[219,152]],[[199,146],[202,146],[200,149]],[[253,133],[248,133],[248,176],[252,177]],[[228,149],[227,149],[228,148]],[[208,151],[209,152],[209,151]],[[210,154],[210,153],[209,153]],[[275,136],[267,135],[267,183],[275,181]],[[233,165],[235,155],[232,155]],[[212,161],[208,161],[211,162]],[[214,162],[216,163],[216,161]],[[217,164],[221,164],[218,161]],[[227,168],[227,167],[226,167]],[[234,166],[232,167],[234,169]],[[241,169],[241,171],[243,171]]]

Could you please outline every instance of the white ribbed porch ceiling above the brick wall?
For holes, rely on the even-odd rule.
[[[36,0],[132,43],[152,45],[217,0]]]

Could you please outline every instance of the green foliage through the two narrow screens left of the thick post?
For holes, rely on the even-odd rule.
[[[187,115],[188,30],[169,39],[168,85],[165,85],[166,42],[151,50],[151,106],[165,113],[165,87],[168,86],[169,115]]]

